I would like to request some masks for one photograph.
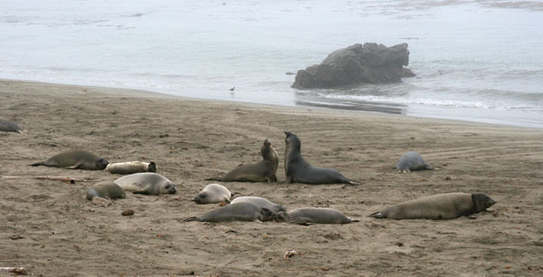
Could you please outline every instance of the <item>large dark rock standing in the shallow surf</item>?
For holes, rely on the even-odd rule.
[[[402,81],[404,65],[407,64],[407,43],[392,47],[377,43],[357,43],[330,53],[320,64],[300,70],[292,87],[326,89],[362,82]]]

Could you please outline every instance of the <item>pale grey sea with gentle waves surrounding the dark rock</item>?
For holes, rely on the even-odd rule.
[[[354,43],[417,77],[291,88]],[[0,78],[543,128],[543,1],[0,0]]]

